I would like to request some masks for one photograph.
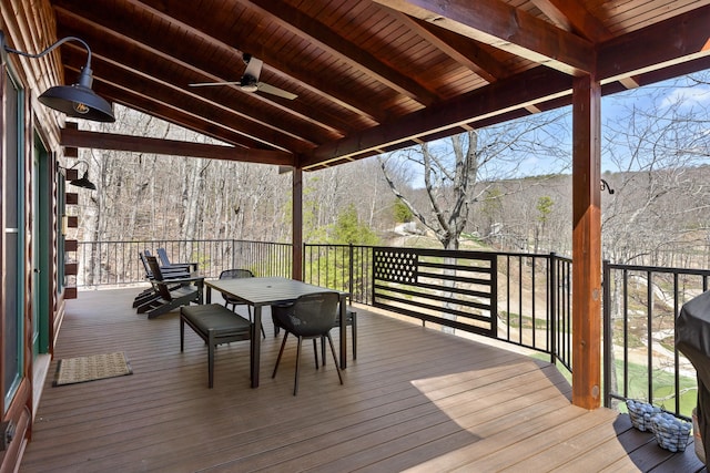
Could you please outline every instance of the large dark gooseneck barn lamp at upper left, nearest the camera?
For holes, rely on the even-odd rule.
[[[59,45],[67,41],[77,41],[81,43],[88,52],[87,64],[81,69],[79,73],[79,80],[73,85],[54,85],[53,88],[44,91],[40,95],[39,101],[49,106],[50,109],[58,110],[65,113],[68,116],[77,119],[92,120],[94,122],[115,122],[113,116],[113,110],[109,102],[100,97],[91,90],[93,78],[91,76],[91,49],[82,39],[75,37],[67,37],[54,44],[47,48],[44,51],[30,54],[23,51],[18,51],[10,48],[4,41],[4,33],[0,31],[0,44],[2,45],[2,54],[12,53],[23,55],[26,58],[41,58],[48,54]],[[4,58],[3,58],[4,62]]]

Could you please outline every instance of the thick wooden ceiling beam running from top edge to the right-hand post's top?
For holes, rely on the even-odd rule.
[[[499,0],[374,1],[567,74],[592,69],[591,42]]]

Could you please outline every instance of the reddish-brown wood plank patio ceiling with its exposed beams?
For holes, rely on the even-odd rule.
[[[50,3],[106,100],[305,169],[569,104],[575,75],[612,93],[710,68],[710,0]],[[189,86],[239,81],[244,53],[297,97]],[[61,60],[73,83],[84,51],[65,43]]]

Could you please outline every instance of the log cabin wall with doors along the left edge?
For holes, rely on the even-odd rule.
[[[55,41],[54,18],[45,0],[1,1],[0,29],[6,42],[18,50],[37,53]],[[31,438],[34,415],[33,371],[39,368],[36,360],[43,354],[51,357],[53,340],[63,316],[63,292],[59,279],[58,260],[58,161],[62,158],[59,145],[60,116],[38,102],[38,96],[50,85],[61,83],[57,53],[40,59],[3,54],[0,74],[0,206],[2,237],[0,239],[0,385],[2,385],[2,417],[0,422],[0,473],[17,470],[22,452]],[[41,166],[38,160],[43,160]],[[40,181],[37,169],[43,169]],[[39,184],[42,182],[42,188]],[[47,205],[44,225],[50,235],[40,235],[39,215],[33,205],[39,194],[51,196]],[[47,251],[43,270],[48,284],[42,295],[48,338],[41,349],[33,346],[36,327],[33,316],[39,310],[39,294],[34,266],[38,255],[36,240],[42,238]],[[39,241],[39,240],[38,240]],[[8,353],[11,353],[8,356]],[[14,358],[13,358],[14,357]],[[48,361],[44,363],[48,364]],[[34,395],[33,395],[34,394]]]

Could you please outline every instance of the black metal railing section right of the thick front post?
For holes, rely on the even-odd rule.
[[[604,263],[605,405],[645,400],[689,418],[697,401],[692,364],[676,349],[676,318],[708,290],[710,270]]]

